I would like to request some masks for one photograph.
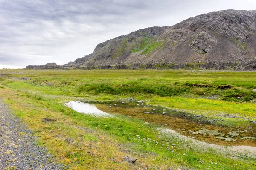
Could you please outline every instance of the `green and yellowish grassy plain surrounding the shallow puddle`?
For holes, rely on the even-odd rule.
[[[140,119],[97,118],[63,105],[132,97],[209,120],[223,119],[214,122],[218,126],[242,128],[256,120],[256,72],[1,69],[0,76],[3,101],[34,131],[38,144],[70,169],[256,169],[255,159],[246,153],[203,149],[176,136],[166,138],[157,125]],[[125,155],[138,158],[137,163],[123,162]]]

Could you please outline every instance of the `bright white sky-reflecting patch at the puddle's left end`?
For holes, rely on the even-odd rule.
[[[104,117],[111,116],[110,114],[97,109],[97,107],[94,104],[84,103],[80,101],[70,101],[65,103],[64,105],[79,113]]]

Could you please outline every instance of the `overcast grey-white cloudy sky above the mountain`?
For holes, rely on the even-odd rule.
[[[119,35],[224,9],[256,0],[0,0],[0,68],[62,65]]]

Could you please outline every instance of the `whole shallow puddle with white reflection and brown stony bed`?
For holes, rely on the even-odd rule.
[[[204,124],[184,118],[182,112],[174,113],[171,109],[154,106],[138,106],[138,104],[113,104],[83,103],[70,101],[65,104],[77,112],[96,115],[126,115],[131,118],[139,118],[146,124],[152,123],[175,130],[182,135],[190,136],[196,140],[218,145],[246,145],[256,147],[256,131],[239,130],[231,127],[219,127],[212,124]],[[109,113],[109,114],[108,114]]]

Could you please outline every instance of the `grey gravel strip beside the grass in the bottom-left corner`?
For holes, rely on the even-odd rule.
[[[35,143],[37,138],[0,101],[0,170],[67,169]]]

